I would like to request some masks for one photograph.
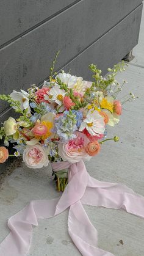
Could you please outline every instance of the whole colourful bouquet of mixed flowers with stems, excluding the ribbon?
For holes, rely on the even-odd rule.
[[[117,124],[122,105],[135,99],[129,93],[117,100],[126,81],[119,84],[115,76],[126,64],[108,68],[107,78],[91,64],[94,81],[88,82],[63,70],[57,74],[55,62],[56,59],[49,80],[41,88],[32,85],[27,92],[13,90],[10,95],[0,95],[20,114],[16,119],[9,117],[0,128],[0,139],[4,139],[5,145],[0,147],[0,163],[9,156],[20,155],[29,168],[46,167],[49,162],[76,163],[98,154],[105,141],[118,141],[117,136],[106,138],[106,126]],[[13,155],[6,148],[9,142],[15,149]],[[68,169],[53,170],[53,174],[57,189],[63,191],[68,183]]]

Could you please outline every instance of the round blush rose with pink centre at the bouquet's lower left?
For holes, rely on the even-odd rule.
[[[48,154],[40,144],[27,145],[23,152],[23,161],[27,167],[37,169],[48,166]]]

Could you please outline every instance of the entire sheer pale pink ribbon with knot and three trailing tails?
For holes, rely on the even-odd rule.
[[[83,161],[52,163],[58,171],[69,167],[68,185],[62,196],[52,200],[34,200],[8,221],[9,235],[0,244],[1,256],[24,256],[31,244],[32,225],[38,219],[51,218],[68,207],[68,233],[79,252],[84,256],[112,256],[98,248],[98,233],[82,206],[93,205],[124,209],[144,218],[144,197],[124,185],[95,180],[90,177]]]

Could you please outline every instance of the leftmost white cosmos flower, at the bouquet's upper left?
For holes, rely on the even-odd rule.
[[[17,92],[16,90],[13,90],[12,93],[10,93],[10,97],[13,100],[18,100],[20,101],[21,105],[20,108],[21,110],[23,109],[28,109],[28,113],[31,112],[31,108],[29,106],[29,93],[25,92],[24,90],[21,90],[21,92]],[[16,109],[15,106],[13,106],[12,108]]]

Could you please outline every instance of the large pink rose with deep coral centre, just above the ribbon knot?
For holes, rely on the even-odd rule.
[[[60,143],[58,145],[59,155],[61,156],[63,161],[77,163],[81,159],[89,158],[87,152],[85,151],[85,148],[90,141],[84,133],[80,133],[79,131],[77,131],[75,134],[75,139],[71,139],[68,142]]]

